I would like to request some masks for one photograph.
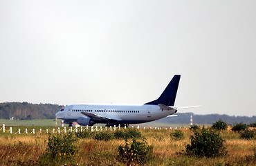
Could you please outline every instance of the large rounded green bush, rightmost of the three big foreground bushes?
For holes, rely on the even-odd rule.
[[[224,142],[216,131],[203,129],[201,132],[194,131],[190,136],[191,145],[186,146],[186,153],[198,157],[215,157],[226,154]]]

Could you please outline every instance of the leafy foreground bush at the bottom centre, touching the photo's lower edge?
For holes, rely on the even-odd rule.
[[[125,146],[118,146],[118,160],[126,165],[145,164],[153,156],[153,147],[147,145],[145,138],[142,142],[136,141],[134,138],[129,147],[127,140]]]

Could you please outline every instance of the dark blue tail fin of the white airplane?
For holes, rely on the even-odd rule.
[[[174,106],[180,78],[181,75],[174,75],[171,82],[165,88],[165,91],[163,91],[162,95],[158,99],[152,102],[147,102],[146,104],[165,104],[167,106]]]

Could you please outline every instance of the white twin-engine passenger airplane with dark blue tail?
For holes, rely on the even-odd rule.
[[[77,122],[82,126],[93,126],[96,123],[106,127],[151,122],[165,117],[172,117],[179,109],[192,107],[174,107],[181,75],[174,75],[160,97],[152,102],[138,105],[117,104],[71,104],[60,109],[55,116],[72,125]]]

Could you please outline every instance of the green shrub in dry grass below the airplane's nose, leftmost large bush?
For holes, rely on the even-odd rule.
[[[51,158],[71,158],[77,151],[77,147],[74,145],[75,138],[73,138],[72,133],[67,133],[63,135],[49,135],[48,145],[46,151],[50,154]]]

